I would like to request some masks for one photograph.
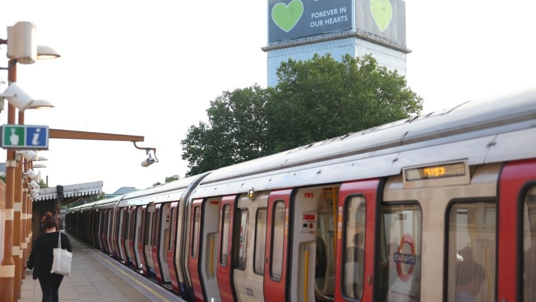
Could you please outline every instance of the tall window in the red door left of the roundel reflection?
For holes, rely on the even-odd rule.
[[[363,294],[366,202],[362,196],[350,197],[345,204],[343,292],[348,298]]]

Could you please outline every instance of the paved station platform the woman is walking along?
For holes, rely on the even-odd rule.
[[[60,285],[60,301],[184,301],[177,294],[123,266],[100,250],[70,235],[71,277]],[[26,270],[19,301],[41,301],[41,286]]]

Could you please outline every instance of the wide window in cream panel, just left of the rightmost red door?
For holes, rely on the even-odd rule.
[[[494,301],[495,202],[456,202],[448,217],[447,301]]]

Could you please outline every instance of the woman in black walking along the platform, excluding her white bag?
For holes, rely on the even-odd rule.
[[[43,302],[57,302],[58,289],[60,288],[61,281],[63,280],[63,275],[61,274],[52,274],[50,270],[52,269],[52,259],[54,248],[58,247],[58,236],[61,236],[61,248],[72,252],[71,242],[67,235],[56,232],[56,227],[58,223],[56,219],[52,216],[52,213],[47,212],[43,219],[41,219],[41,226],[45,228],[45,233],[37,237],[33,247],[30,257],[28,257],[26,267],[28,269],[34,269],[33,277],[39,279],[39,284],[41,285],[41,292],[43,292]]]

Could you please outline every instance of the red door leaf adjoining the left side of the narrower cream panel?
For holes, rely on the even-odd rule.
[[[233,217],[235,196],[225,196],[221,199],[220,206],[220,246],[219,261],[216,268],[218,285],[222,302],[233,302],[234,294],[232,290],[232,239],[233,239]]]

